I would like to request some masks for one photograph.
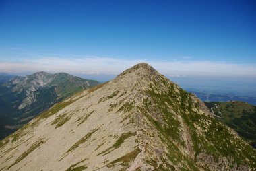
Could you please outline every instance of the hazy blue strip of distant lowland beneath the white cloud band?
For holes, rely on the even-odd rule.
[[[24,73],[8,73],[16,76],[32,75],[34,72]],[[57,72],[49,72],[57,73]],[[73,74],[77,77],[84,79],[93,79],[104,83],[115,79],[117,75],[102,75],[102,74]],[[164,74],[163,74],[164,75]],[[212,94],[234,94],[236,96],[256,96],[256,79],[250,77],[193,77],[193,76],[177,76],[177,75],[164,75],[174,83],[177,83],[185,90],[194,90],[198,92],[212,93]]]

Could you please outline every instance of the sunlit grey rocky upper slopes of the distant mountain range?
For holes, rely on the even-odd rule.
[[[13,93],[20,94],[24,92],[24,99],[18,106],[18,110],[21,110],[26,107],[29,108],[32,104],[34,104],[34,102],[40,100],[35,96],[35,94],[38,94],[38,90],[40,88],[51,88],[53,86],[59,86],[59,91],[56,90],[55,92],[57,96],[61,98],[66,95],[63,94],[63,92],[66,91],[65,86],[73,86],[73,88],[82,88],[84,90],[98,84],[98,81],[81,79],[67,73],[51,74],[41,71],[26,77],[14,77],[8,81],[7,86],[11,88]],[[70,92],[73,91],[76,90],[70,90]]]

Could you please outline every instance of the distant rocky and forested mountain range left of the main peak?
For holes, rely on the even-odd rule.
[[[0,80],[0,139],[28,123],[40,112],[98,81],[67,73],[38,72],[26,77],[2,74]]]

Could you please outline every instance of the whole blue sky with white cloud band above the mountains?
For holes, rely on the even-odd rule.
[[[256,1],[0,0],[0,72],[256,79]]]

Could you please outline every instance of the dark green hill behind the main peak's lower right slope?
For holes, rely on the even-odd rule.
[[[256,106],[245,102],[205,102],[215,118],[256,148]]]

